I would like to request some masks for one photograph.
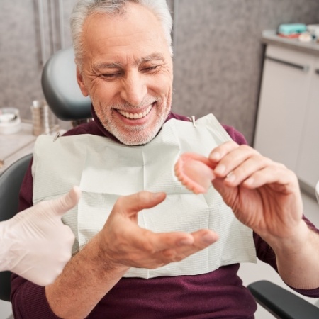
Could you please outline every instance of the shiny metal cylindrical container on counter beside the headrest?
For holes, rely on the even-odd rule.
[[[50,135],[58,130],[57,118],[45,101],[35,100],[31,106],[33,135]]]

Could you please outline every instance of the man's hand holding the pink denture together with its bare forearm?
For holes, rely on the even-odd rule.
[[[319,286],[319,236],[303,221],[296,174],[247,145],[226,142],[209,159],[216,167],[213,186],[235,216],[272,247],[286,284]]]

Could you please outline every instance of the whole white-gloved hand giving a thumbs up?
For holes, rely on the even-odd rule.
[[[72,254],[74,235],[61,217],[81,191],[42,201],[0,223],[0,271],[10,270],[40,286],[51,284]]]

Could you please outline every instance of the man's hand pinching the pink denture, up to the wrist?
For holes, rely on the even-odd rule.
[[[303,205],[293,172],[233,141],[216,147],[209,159],[216,165],[213,186],[238,220],[264,239],[296,235]]]

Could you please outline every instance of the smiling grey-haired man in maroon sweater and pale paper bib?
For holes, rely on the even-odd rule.
[[[166,1],[81,0],[71,24],[94,121],[37,141],[21,209],[78,184],[64,218],[74,256],[45,289],[13,276],[15,318],[254,318],[237,270],[256,257],[319,296],[319,235],[296,175],[212,115],[195,126],[171,112]],[[184,152],[212,163],[207,194],[174,177]]]

